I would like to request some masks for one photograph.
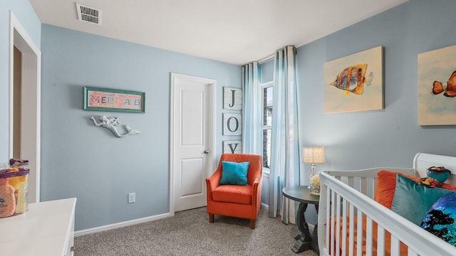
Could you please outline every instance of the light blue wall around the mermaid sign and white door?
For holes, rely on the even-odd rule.
[[[217,80],[222,153],[222,87],[241,87],[239,66],[48,25],[41,46],[41,200],[77,197],[76,230],[169,211],[170,73]],[[145,92],[145,114],[84,111],[84,86]],[[116,138],[92,115],[141,134]]]

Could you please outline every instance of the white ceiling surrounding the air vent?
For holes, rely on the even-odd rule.
[[[42,23],[243,65],[408,0],[29,0]],[[76,2],[100,9],[78,21]]]

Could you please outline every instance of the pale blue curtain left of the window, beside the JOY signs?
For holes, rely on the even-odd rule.
[[[242,67],[242,152],[261,155],[261,108],[258,63]]]

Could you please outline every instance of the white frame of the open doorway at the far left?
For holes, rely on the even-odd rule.
[[[9,12],[9,155],[13,156],[13,103],[14,103],[14,46],[22,53],[21,87],[22,92],[32,92],[31,95],[24,95],[25,100],[35,102],[35,106],[29,108],[21,107],[21,119],[28,122],[21,122],[21,127],[28,127],[26,137],[21,132],[21,141],[30,143],[29,146],[21,143],[21,154],[35,155],[34,159],[28,159],[31,163],[31,174],[28,175],[28,182],[33,183],[33,192],[28,188],[28,201],[35,203],[40,201],[40,166],[41,166],[41,50],[36,46],[26,29],[16,18],[12,11]],[[27,67],[27,68],[24,68]],[[34,92],[34,93],[33,93]],[[24,102],[24,101],[23,101]],[[32,102],[32,104],[33,104]],[[33,111],[31,111],[33,109]],[[25,111],[24,111],[25,110]],[[30,121],[31,120],[31,121]],[[33,125],[30,122],[35,121]],[[22,130],[22,129],[21,129]]]

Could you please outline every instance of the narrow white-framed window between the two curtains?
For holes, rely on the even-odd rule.
[[[274,95],[274,87],[272,85],[272,82],[261,84],[263,167],[268,169],[271,166],[272,99]]]

